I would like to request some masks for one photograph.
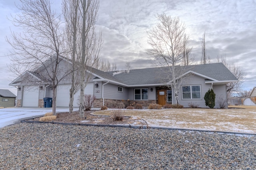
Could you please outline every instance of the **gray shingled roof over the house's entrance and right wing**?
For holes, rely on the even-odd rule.
[[[108,72],[108,74],[126,85],[163,84],[162,78],[170,76],[170,74],[167,75],[166,71],[163,71],[167,69],[168,67],[142,68],[130,70],[129,72],[119,72],[119,74],[114,74],[115,72]],[[209,79],[208,81],[231,82],[238,80],[222,63],[177,66],[177,69],[195,73],[199,76],[205,77],[206,80]]]

